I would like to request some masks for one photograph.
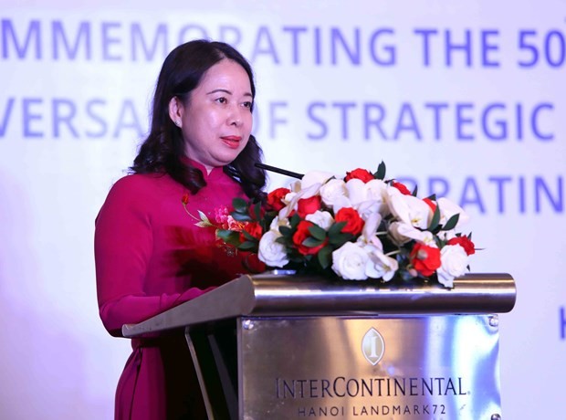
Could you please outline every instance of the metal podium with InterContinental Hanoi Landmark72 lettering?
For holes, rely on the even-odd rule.
[[[501,419],[498,314],[515,282],[454,284],[243,275],[122,332],[183,330],[210,419]]]

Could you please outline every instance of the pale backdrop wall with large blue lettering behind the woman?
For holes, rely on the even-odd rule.
[[[0,2],[1,418],[111,417],[129,344],[98,317],[94,218],[147,129],[162,59],[193,37],[252,62],[267,163],[340,174],[383,160],[421,196],[448,186],[485,248],[472,271],[519,289],[501,317],[504,418],[558,418],[563,1],[81,3]],[[332,33],[351,51],[359,37],[359,59],[339,42],[333,60]]]

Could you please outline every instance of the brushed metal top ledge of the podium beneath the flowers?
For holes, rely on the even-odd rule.
[[[197,299],[138,324],[124,337],[239,316],[379,316],[503,313],[515,306],[508,274],[467,274],[454,289],[438,285],[389,286],[367,281],[330,281],[277,272],[243,275]]]

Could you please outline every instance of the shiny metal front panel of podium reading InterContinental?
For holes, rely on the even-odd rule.
[[[500,418],[497,315],[237,323],[239,418]]]

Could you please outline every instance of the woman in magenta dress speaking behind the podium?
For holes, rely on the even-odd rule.
[[[215,220],[235,196],[262,197],[255,95],[249,64],[224,43],[188,42],[165,59],[151,132],[97,217],[97,290],[110,334],[243,272],[240,256],[215,246],[214,229],[195,226],[191,215]],[[131,344],[116,418],[205,418],[183,335]]]

